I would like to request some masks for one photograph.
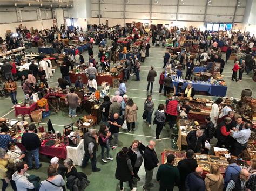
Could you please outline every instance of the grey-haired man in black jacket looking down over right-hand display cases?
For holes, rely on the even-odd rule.
[[[205,148],[205,135],[202,130],[190,131],[186,137],[187,148],[192,149],[195,153],[201,153]]]

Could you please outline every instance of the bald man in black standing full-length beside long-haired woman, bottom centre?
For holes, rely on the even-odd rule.
[[[150,140],[149,145],[145,148],[143,159],[144,159],[144,168],[146,171],[146,180],[143,185],[143,190],[147,191],[150,187],[153,187],[154,184],[151,182],[153,178],[154,168],[159,166],[159,161],[157,158],[157,153],[154,151],[156,143],[153,140]]]

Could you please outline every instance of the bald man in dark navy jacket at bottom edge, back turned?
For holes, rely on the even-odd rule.
[[[188,174],[185,187],[188,191],[205,191],[205,182],[201,178],[203,174],[203,168],[197,167],[195,172]]]

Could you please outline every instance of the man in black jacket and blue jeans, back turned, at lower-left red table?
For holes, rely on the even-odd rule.
[[[22,135],[22,145],[26,149],[26,158],[28,160],[29,169],[33,168],[32,157],[35,160],[35,168],[39,169],[42,163],[39,162],[39,147],[41,147],[41,141],[38,135],[35,133],[36,125],[30,124],[29,131]]]

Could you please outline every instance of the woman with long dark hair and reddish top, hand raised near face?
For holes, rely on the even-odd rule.
[[[109,151],[110,151],[109,137],[110,136],[111,136],[111,132],[109,132],[109,129],[107,129],[107,126],[105,124],[100,125],[100,128],[99,128],[99,145],[102,148],[101,155],[102,155],[102,161],[104,163],[107,163],[107,160],[113,160],[113,158],[109,154]],[[104,158],[105,148],[106,148],[106,154],[107,154],[106,158]]]

